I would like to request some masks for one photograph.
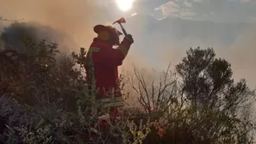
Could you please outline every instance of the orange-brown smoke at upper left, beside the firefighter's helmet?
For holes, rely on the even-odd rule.
[[[28,22],[12,27],[16,30],[9,28],[5,33],[18,33],[17,29],[23,29],[36,39],[49,39],[65,45],[66,51],[90,45],[95,36],[92,27],[102,17],[98,14],[103,11],[102,6],[89,0],[1,0],[1,3],[4,4],[0,5],[0,16]],[[9,26],[9,22],[3,24]]]

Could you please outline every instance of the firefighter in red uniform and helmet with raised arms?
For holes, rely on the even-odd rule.
[[[117,68],[122,65],[134,39],[128,34],[120,43],[119,36],[122,33],[111,26],[97,25],[94,32],[97,38],[93,39],[86,55],[91,60],[91,65],[86,69],[87,79],[91,81],[91,86],[98,89],[96,99],[100,99],[104,107],[109,108],[110,117],[118,117],[118,108],[124,106],[124,101],[118,84]]]

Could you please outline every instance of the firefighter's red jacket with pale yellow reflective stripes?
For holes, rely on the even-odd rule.
[[[116,81],[119,81],[118,69],[117,67],[122,65],[122,61],[127,56],[129,48],[131,45],[130,39],[125,37],[116,49],[112,48],[112,45],[100,40],[93,39],[91,47],[87,52],[87,57],[90,57],[91,62],[93,63],[93,77],[90,75],[89,71],[91,68],[87,68],[87,78],[94,78],[96,81],[96,88],[100,97],[97,99],[109,98],[109,95],[106,92],[109,92],[111,88],[119,89]],[[122,93],[119,91],[116,93],[116,97],[122,98]],[[122,100],[118,99],[116,103],[111,103],[111,106],[122,106]],[[110,104],[110,103],[106,103]],[[109,107],[107,105],[107,107]]]

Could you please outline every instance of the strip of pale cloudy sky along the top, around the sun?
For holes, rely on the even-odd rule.
[[[109,17],[125,15],[113,6],[113,0],[94,0],[109,7]],[[107,8],[108,9],[108,8]],[[256,21],[255,0],[135,0],[131,14],[153,15],[157,19],[182,17],[198,21],[244,22]],[[107,16],[108,17],[108,16]]]

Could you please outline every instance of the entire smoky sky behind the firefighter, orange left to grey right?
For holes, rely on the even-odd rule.
[[[35,36],[52,39],[63,51],[88,48],[97,24],[124,16],[134,45],[124,62],[142,68],[165,69],[181,62],[190,47],[213,47],[217,57],[232,64],[234,79],[246,78],[256,88],[255,0],[136,0],[122,12],[114,0],[0,0],[0,16],[34,21]],[[133,15],[133,16],[132,16]],[[30,23],[30,22],[29,22]],[[0,29],[9,22],[0,22]],[[118,25],[116,25],[117,28]]]

